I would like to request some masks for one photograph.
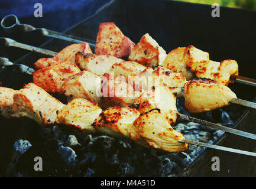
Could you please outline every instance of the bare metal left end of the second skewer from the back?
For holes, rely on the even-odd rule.
[[[23,48],[25,50],[34,51],[34,52],[41,53],[41,54],[46,54],[46,55],[51,56],[51,57],[54,57],[57,54],[54,51],[46,50],[44,48],[38,48],[38,47],[33,47],[31,45],[18,43],[17,41],[14,41],[14,40],[12,40],[10,38],[7,38],[7,37],[0,37],[0,40],[4,40],[5,45],[7,45],[8,47]]]

